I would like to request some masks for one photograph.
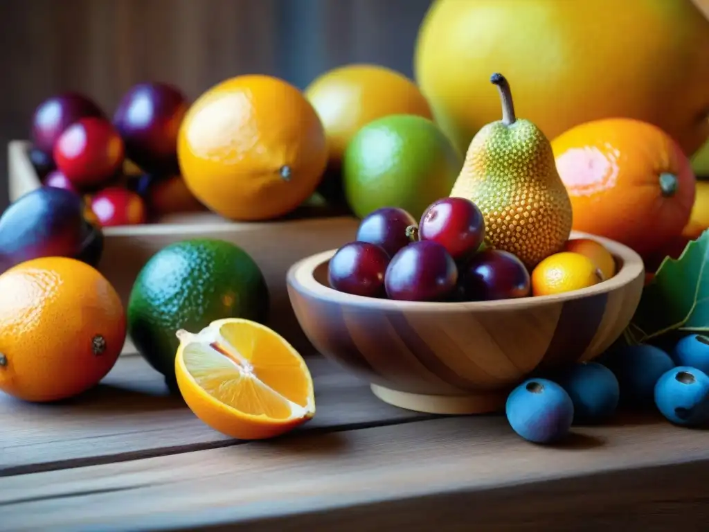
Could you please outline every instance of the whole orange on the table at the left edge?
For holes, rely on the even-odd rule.
[[[55,401],[93,387],[125,340],[121,299],[91,266],[67,257],[23,262],[0,275],[0,390]]]

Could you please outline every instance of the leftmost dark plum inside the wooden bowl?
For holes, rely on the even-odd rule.
[[[389,255],[369,242],[350,242],[337,250],[328,265],[330,287],[364,297],[384,296]]]

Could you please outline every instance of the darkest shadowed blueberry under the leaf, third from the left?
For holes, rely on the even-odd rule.
[[[654,345],[628,345],[604,360],[620,384],[620,404],[650,406],[657,379],[674,367],[670,356]]]

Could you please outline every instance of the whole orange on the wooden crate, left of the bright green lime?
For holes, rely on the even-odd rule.
[[[315,192],[328,161],[323,124],[305,96],[275,77],[233,77],[202,94],[177,138],[184,182],[233,220],[288,214]]]

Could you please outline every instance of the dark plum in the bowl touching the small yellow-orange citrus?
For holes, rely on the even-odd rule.
[[[460,269],[459,299],[493,301],[530,295],[530,275],[521,260],[503,250],[483,250]]]

